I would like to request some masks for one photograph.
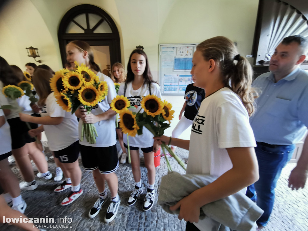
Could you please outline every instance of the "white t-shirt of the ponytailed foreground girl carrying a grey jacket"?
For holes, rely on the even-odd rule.
[[[219,177],[232,168],[226,148],[255,146],[241,99],[229,88],[222,88],[202,101],[193,120],[186,173]],[[200,230],[212,230],[213,224],[211,219],[194,223]]]

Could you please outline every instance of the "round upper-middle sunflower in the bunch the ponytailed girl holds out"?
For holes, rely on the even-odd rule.
[[[163,113],[163,103],[156,95],[147,95],[141,101],[141,107],[152,117]]]

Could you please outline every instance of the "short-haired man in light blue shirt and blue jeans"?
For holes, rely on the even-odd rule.
[[[260,93],[256,113],[250,124],[257,141],[259,180],[248,187],[246,195],[264,210],[257,221],[262,229],[274,206],[274,189],[282,168],[291,159],[295,143],[308,126],[308,72],[299,68],[305,60],[308,41],[300,35],[286,37],[270,60],[270,72],[253,82]],[[302,155],[289,177],[292,190],[304,188],[308,172],[308,136]]]

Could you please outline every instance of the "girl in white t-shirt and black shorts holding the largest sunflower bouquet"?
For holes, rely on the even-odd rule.
[[[90,45],[83,41],[72,41],[66,46],[67,61],[74,67],[74,62],[85,64],[99,77],[100,81],[107,82],[108,94],[104,100],[87,110],[80,107],[76,111],[79,120],[79,144],[83,167],[87,171],[93,171],[93,178],[99,192],[99,198],[96,200],[93,208],[89,211],[89,217],[95,217],[102,205],[107,201],[107,192],[105,181],[109,186],[111,193],[111,202],[107,209],[104,221],[112,221],[120,206],[120,197],[118,195],[118,177],[115,171],[119,166],[118,154],[116,150],[115,134],[115,112],[110,108],[111,100],[116,97],[116,91],[113,81],[100,72],[99,66],[94,62],[93,51]],[[98,137],[95,144],[86,141],[80,141],[81,128],[83,123],[94,124]]]

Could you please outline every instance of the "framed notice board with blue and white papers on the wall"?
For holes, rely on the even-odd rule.
[[[184,95],[192,83],[193,53],[197,43],[159,44],[159,77],[163,95]]]

